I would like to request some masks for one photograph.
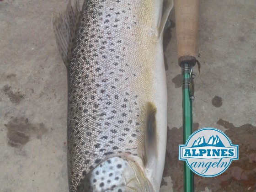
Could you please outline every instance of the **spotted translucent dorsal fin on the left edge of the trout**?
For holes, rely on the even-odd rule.
[[[66,67],[68,67],[72,56],[80,12],[79,0],[75,0],[75,7],[71,6],[69,0],[66,11],[53,15],[56,43]]]

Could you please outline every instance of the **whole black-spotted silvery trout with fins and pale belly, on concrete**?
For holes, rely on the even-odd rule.
[[[157,192],[167,91],[162,36],[172,1],[85,0],[53,17],[68,74],[70,192]]]

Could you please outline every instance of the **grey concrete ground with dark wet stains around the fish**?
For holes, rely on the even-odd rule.
[[[51,23],[67,0],[0,0],[0,192],[67,192],[67,76]],[[194,129],[219,128],[240,160],[196,192],[256,191],[256,2],[200,0]],[[165,32],[168,141],[161,192],[181,192],[181,68]],[[196,68],[195,68],[196,69]],[[197,70],[195,70],[197,71]]]

